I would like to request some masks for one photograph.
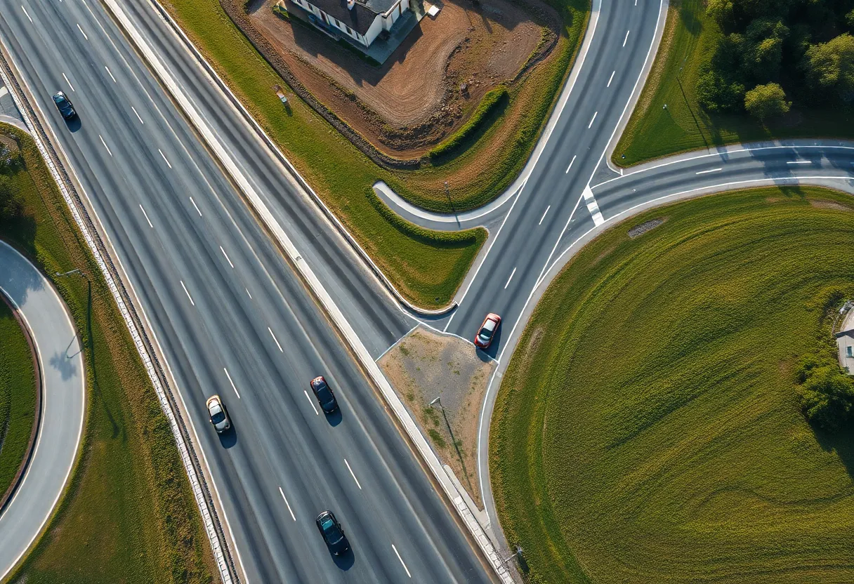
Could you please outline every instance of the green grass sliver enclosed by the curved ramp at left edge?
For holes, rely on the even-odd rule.
[[[26,456],[36,391],[30,346],[15,314],[0,300],[0,499]]]

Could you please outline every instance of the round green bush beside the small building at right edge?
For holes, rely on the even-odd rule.
[[[816,354],[807,355],[798,368],[801,411],[811,423],[834,431],[854,414],[854,378],[839,364]]]

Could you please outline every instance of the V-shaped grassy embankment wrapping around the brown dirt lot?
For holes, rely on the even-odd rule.
[[[494,108],[492,111],[500,110],[501,115],[469,137],[477,144],[491,143],[496,132],[512,131],[507,147],[495,152],[472,148],[441,166],[417,172],[389,172],[376,166],[296,97],[286,111],[272,91],[274,85],[286,84],[234,26],[217,0],[168,0],[165,5],[397,289],[420,306],[438,307],[453,298],[486,232],[464,231],[460,237],[421,230],[405,221],[390,222],[371,185],[384,180],[401,196],[423,207],[459,212],[494,198],[512,182],[551,110],[553,96],[587,22],[588,0],[551,1],[566,26],[556,48],[559,58],[549,61],[547,67],[538,66],[518,96],[512,96],[513,100],[527,102],[529,111],[517,116],[517,124],[508,128],[502,126],[501,115],[510,108]],[[478,156],[488,163],[481,162],[477,172],[470,172]],[[450,184],[452,201],[445,195],[445,180]]]

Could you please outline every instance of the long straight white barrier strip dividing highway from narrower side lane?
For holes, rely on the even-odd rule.
[[[362,366],[367,376],[371,378],[375,387],[379,389],[380,393],[383,395],[383,400],[385,400],[386,404],[388,404],[389,408],[394,412],[395,418],[403,426],[403,429],[406,431],[412,445],[418,451],[418,454],[424,463],[430,468],[430,473],[436,482],[438,482],[442,487],[442,491],[453,505],[454,510],[457,511],[459,517],[462,518],[471,538],[475,543],[477,543],[478,548],[482,552],[483,558],[488,560],[488,564],[492,567],[494,573],[499,576],[500,581],[502,581],[503,584],[512,584],[512,576],[502,564],[498,553],[495,552],[492,542],[483,532],[480,524],[477,523],[477,519],[471,513],[468,506],[465,505],[465,500],[454,487],[453,482],[442,468],[442,463],[436,456],[436,453],[434,453],[430,448],[430,445],[427,443],[424,435],[421,434],[415,421],[409,416],[406,407],[403,406],[403,403],[397,397],[397,394],[395,394],[394,388],[391,387],[389,381],[385,376],[383,376],[379,366],[371,358],[371,354],[368,353],[368,350],[361,342],[353,327],[349,324],[347,318],[344,317],[341,310],[336,306],[335,301],[332,300],[332,297],[323,287],[322,283],[320,283],[311,267],[308,266],[307,260],[305,260],[305,258],[300,254],[294,243],[291,242],[290,237],[288,237],[284,232],[282,226],[278,224],[278,221],[273,217],[264,201],[261,200],[252,184],[249,183],[249,180],[243,176],[243,173],[237,167],[237,163],[233,161],[231,155],[229,155],[223,145],[219,143],[219,140],[214,136],[213,131],[203,120],[202,115],[196,111],[196,108],[190,103],[189,98],[179,90],[178,84],[173,79],[171,73],[169,73],[166,67],[162,65],[159,59],[154,55],[153,51],[149,48],[142,35],[132,25],[128,16],[121,9],[118,0],[103,0],[103,2],[114,15],[114,18],[120,24],[121,28],[131,39],[132,43],[137,47],[137,50],[139,50],[143,55],[143,58],[148,61],[149,67],[151,67],[157,78],[160,79],[167,91],[173,96],[178,107],[182,109],[184,114],[190,120],[190,123],[196,128],[196,131],[199,132],[202,139],[208,144],[208,148],[219,160],[219,163],[223,166],[225,172],[231,176],[232,180],[237,184],[237,188],[243,192],[243,196],[245,196],[249,201],[249,204],[252,205],[254,212],[258,215],[259,219],[263,221],[264,225],[266,225],[266,228],[270,231],[272,237],[274,237],[275,242],[278,242],[279,247],[282,248],[287,258],[290,260],[291,265],[295,267],[296,272],[301,276],[303,282],[306,283],[308,291],[319,302],[320,307],[323,309],[327,317],[330,318],[331,323],[343,337],[344,341],[347,342],[351,351],[354,353],[354,357],[357,359],[357,362]]]

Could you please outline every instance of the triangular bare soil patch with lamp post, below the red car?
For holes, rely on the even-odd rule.
[[[455,336],[422,327],[379,360],[421,431],[476,503],[477,423],[494,364]],[[441,405],[430,401],[441,398]]]

